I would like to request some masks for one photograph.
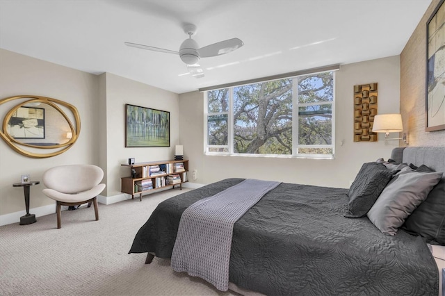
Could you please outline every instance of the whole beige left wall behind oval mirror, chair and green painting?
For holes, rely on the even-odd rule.
[[[0,49],[0,99],[35,94],[66,101],[76,106],[81,117],[81,133],[74,146],[51,158],[28,158],[0,141],[0,225],[18,221],[24,215],[22,188],[13,188],[22,174],[40,184],[31,187],[31,213],[54,213],[54,201],[42,194],[42,174],[54,165],[90,163],[104,170],[106,190],[103,203],[129,198],[120,192],[120,177],[129,176],[128,158],[137,162],[171,159],[179,143],[179,95],[113,74],[87,74],[43,60]],[[0,105],[0,118],[15,106]],[[125,104],[170,112],[169,148],[125,148]],[[117,199],[116,199],[117,198]]]

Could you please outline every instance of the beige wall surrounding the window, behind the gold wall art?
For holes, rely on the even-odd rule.
[[[333,160],[204,156],[204,96],[179,95],[179,135],[189,169],[197,170],[195,183],[241,177],[348,188],[362,163],[388,158],[397,141],[353,142],[353,86],[378,83],[378,112],[398,113],[399,56],[343,65],[336,74],[336,155]],[[393,135],[394,137],[394,135]]]

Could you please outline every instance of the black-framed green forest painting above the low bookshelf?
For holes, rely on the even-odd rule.
[[[125,104],[125,147],[170,147],[170,112]]]

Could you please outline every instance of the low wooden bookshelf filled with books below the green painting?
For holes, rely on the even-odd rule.
[[[130,168],[130,176],[121,178],[121,192],[131,195],[142,195],[161,188],[175,188],[188,181],[188,160],[184,161],[153,161],[150,163],[135,163],[122,165]],[[132,172],[133,171],[133,172]]]

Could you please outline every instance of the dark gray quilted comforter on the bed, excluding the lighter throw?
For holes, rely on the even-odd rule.
[[[226,179],[165,200],[129,253],[170,258],[181,213],[243,181]],[[348,219],[346,189],[282,183],[234,225],[229,279],[266,295],[437,295],[437,266],[419,236],[386,236]]]

